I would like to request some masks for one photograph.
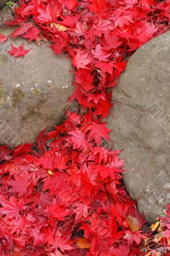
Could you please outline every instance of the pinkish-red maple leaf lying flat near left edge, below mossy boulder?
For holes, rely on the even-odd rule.
[[[27,187],[31,181],[27,179],[25,174],[23,177],[17,173],[13,174],[15,180],[8,180],[8,184],[12,186],[12,193],[19,193],[18,196],[23,196],[26,193]]]

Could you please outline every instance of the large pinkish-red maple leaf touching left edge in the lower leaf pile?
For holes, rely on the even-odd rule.
[[[19,212],[27,209],[27,206],[24,206],[24,199],[20,198],[17,201],[14,196],[10,196],[10,201],[0,199],[0,204],[3,205],[0,208],[0,213],[5,214],[7,218],[15,217],[16,220],[19,218]]]

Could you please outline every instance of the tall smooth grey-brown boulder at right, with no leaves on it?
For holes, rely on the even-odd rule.
[[[124,148],[125,186],[149,222],[170,202],[170,32],[138,49],[113,91],[114,148]]]

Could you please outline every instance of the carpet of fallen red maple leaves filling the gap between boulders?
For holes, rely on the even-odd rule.
[[[41,132],[34,147],[1,147],[1,255],[161,255],[153,254],[154,244],[141,252],[144,220],[121,184],[120,150],[101,142],[109,140],[102,119],[125,60],[169,30],[170,1],[24,0],[15,14],[8,23],[19,26],[13,38],[51,42],[55,54],[69,53],[75,67],[70,100],[78,100],[81,115],[67,112],[63,125]],[[0,42],[7,39],[0,35]],[[10,54],[29,50],[12,45]],[[166,213],[162,255],[169,255]]]

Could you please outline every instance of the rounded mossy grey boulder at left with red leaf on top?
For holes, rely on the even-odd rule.
[[[4,29],[9,35],[10,29]],[[14,58],[6,50],[24,44],[31,51]],[[43,44],[24,38],[0,45],[0,143],[34,142],[38,132],[63,118],[63,108],[73,92],[70,60],[56,56]]]

